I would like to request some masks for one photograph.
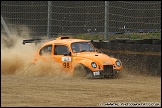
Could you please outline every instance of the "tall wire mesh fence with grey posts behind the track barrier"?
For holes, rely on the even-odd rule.
[[[161,32],[161,1],[1,1],[1,17],[32,36]]]

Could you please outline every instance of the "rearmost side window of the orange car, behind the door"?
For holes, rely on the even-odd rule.
[[[51,55],[51,52],[52,52],[52,45],[47,45],[40,50],[39,55]]]

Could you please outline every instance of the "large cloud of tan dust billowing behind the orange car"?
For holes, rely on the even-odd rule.
[[[26,30],[26,29],[25,29]],[[44,63],[39,61],[32,64],[32,60],[36,51],[40,47],[34,43],[22,44],[23,39],[30,39],[27,31],[22,31],[25,36],[18,34],[16,30],[12,30],[11,36],[8,37],[1,33],[1,74],[16,74],[30,76],[44,75],[61,75],[59,64],[54,61]]]

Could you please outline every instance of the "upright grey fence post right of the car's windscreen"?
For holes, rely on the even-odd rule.
[[[109,31],[109,17],[108,17],[108,13],[109,13],[109,1],[105,1],[105,28],[104,28],[104,40],[107,41],[108,40],[108,31]],[[107,27],[108,26],[108,27]]]

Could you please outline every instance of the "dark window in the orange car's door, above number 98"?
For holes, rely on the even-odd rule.
[[[68,54],[68,53],[69,53],[69,49],[67,46],[55,45],[54,55],[64,55],[64,54]]]

